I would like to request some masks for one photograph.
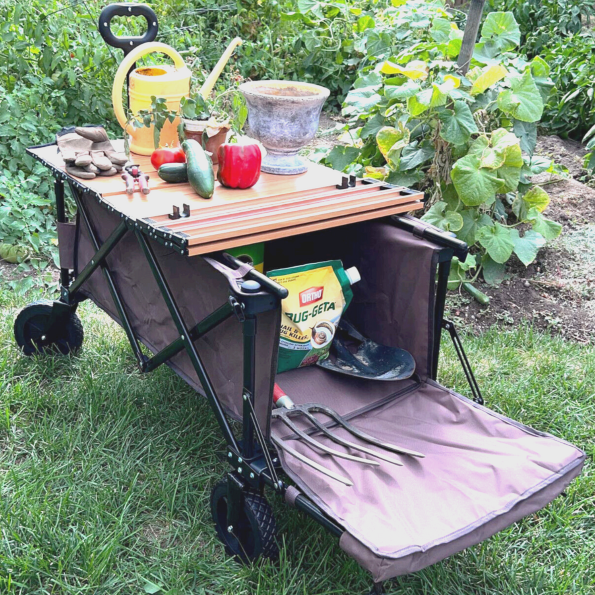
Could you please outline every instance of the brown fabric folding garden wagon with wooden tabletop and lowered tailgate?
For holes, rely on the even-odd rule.
[[[212,490],[211,509],[231,555],[250,561],[277,553],[267,488],[338,537],[380,591],[382,581],[543,508],[580,473],[585,455],[577,447],[483,406],[455,328],[443,317],[450,262],[465,258],[467,247],[399,214],[419,209],[420,193],[312,165],[299,176],[264,174],[242,195],[218,188],[203,201],[187,184],[162,183],[149,159],[137,157],[152,190],[129,196],[120,179],[69,176],[53,144],[29,153],[56,179],[61,289],[54,302],[18,314],[18,345],[27,355],[76,350],[83,340],[77,305],[91,299],[124,328],[141,372],[167,364],[206,396],[230,464]],[[67,221],[65,186],[77,206],[74,221]],[[415,374],[387,382],[319,367],[277,375],[287,291],[225,252],[255,241],[266,242],[269,270],[326,259],[358,267],[362,281],[347,317],[365,336],[407,349]],[[436,381],[443,328],[472,400]],[[298,404],[322,403],[371,436],[425,458],[371,467],[314,452],[271,415],[275,381]],[[240,422],[240,435],[230,419]],[[353,439],[327,418],[320,421]],[[300,428],[338,448],[316,428]],[[275,449],[273,432],[353,486]]]

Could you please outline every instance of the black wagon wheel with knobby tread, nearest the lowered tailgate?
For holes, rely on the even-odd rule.
[[[211,514],[226,552],[241,562],[276,559],[279,554],[277,525],[267,499],[258,491],[246,488],[243,503],[236,526],[230,527],[227,524],[227,480],[220,481],[211,492]]]

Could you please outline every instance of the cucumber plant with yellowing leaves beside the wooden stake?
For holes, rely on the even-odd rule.
[[[477,255],[453,267],[453,282],[482,270],[488,282],[499,281],[513,253],[527,265],[561,229],[542,214],[547,193],[531,189],[528,180],[553,167],[532,157],[552,86],[549,67],[516,53],[521,32],[512,12],[491,12],[471,69],[461,76],[462,32],[450,14],[438,2],[425,8],[405,2],[390,10],[390,22],[401,22],[400,11],[409,14],[411,7],[418,17],[425,10],[424,27],[389,57],[367,57],[343,104],[355,142],[333,149],[324,161],[424,187],[430,208],[423,219],[456,233]]]

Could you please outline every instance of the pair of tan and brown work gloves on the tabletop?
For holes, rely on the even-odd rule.
[[[126,154],[115,151],[102,126],[62,129],[56,134],[56,143],[66,171],[84,180],[115,176],[127,162]]]

